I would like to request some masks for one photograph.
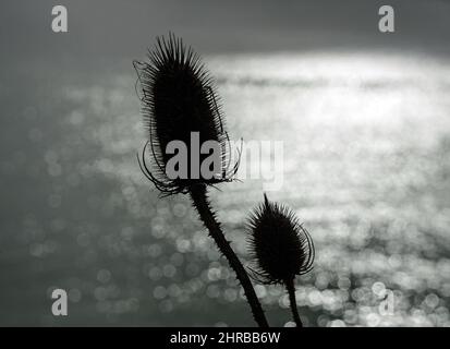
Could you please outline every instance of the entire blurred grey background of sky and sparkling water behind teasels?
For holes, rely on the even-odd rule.
[[[56,4],[69,33],[51,31]],[[396,33],[378,31],[382,4]],[[305,323],[449,326],[449,17],[443,0],[2,1],[0,324],[254,325],[187,197],[158,198],[135,160],[131,62],[173,32],[216,77],[232,139],[284,142],[269,197],[316,242]],[[262,184],[212,193],[243,261]],[[292,325],[281,288],[256,290]]]

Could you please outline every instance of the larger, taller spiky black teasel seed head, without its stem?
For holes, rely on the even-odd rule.
[[[165,194],[187,193],[193,185],[214,185],[229,181],[238,170],[238,163],[230,168],[229,137],[224,129],[219,98],[214,81],[199,57],[186,48],[181,38],[169,34],[169,38],[158,37],[154,50],[148,51],[148,60],[134,61],[141,85],[141,100],[144,121],[148,131],[148,142],[143,149],[139,165],[146,177]],[[215,141],[220,146],[220,173],[212,178],[191,176],[192,155],[196,163],[208,154],[192,154],[192,134],[196,133],[199,145]],[[166,166],[173,154],[167,153],[171,141],[181,141],[187,148],[186,178],[170,178]],[[147,166],[147,149],[154,161]]]

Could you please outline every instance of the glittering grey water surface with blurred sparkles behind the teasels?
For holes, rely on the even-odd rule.
[[[314,270],[297,279],[304,322],[449,326],[450,63],[393,53],[207,63],[230,136],[284,142],[283,186],[268,194],[316,244]],[[0,324],[254,325],[187,197],[158,198],[138,170],[133,73],[40,84],[11,107],[0,131]],[[262,184],[211,193],[244,261]],[[69,291],[68,317],[50,313],[56,287]],[[291,325],[282,288],[256,291],[271,324]]]

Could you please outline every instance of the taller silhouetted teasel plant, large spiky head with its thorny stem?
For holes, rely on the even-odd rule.
[[[157,38],[156,49],[149,51],[148,58],[147,62],[134,62],[141,82],[143,113],[149,136],[139,158],[141,169],[162,195],[190,194],[209,234],[235,272],[255,321],[259,326],[268,326],[248,275],[223,236],[207,195],[208,186],[230,181],[239,166],[239,163],[230,166],[229,139],[212,80],[198,56],[191,48],[185,48],[182,40],[172,34],[168,39]],[[191,144],[193,132],[198,133],[199,144],[206,141],[220,144],[221,176],[206,178],[202,172],[197,173],[197,178],[191,176],[192,156],[196,163],[202,164],[208,155],[191,154],[190,147],[188,176],[172,179],[167,174],[168,161],[173,156],[166,153],[167,145],[171,141]],[[148,145],[154,160],[150,166],[145,159]]]

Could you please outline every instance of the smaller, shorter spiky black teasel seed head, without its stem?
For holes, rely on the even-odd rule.
[[[252,276],[263,284],[289,284],[313,268],[314,244],[295,214],[288,207],[264,203],[248,220]]]

